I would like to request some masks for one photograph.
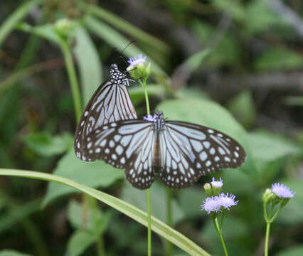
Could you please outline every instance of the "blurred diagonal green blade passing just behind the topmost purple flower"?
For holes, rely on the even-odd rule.
[[[105,23],[98,21],[96,18],[92,18],[91,16],[87,16],[84,20],[85,26],[90,29],[90,31],[100,36],[103,40],[110,44],[110,46],[114,46],[118,50],[124,50],[125,46],[129,43],[127,38],[124,38],[122,34],[112,29]],[[146,55],[142,50],[134,46],[134,44],[128,46],[124,52],[128,57],[137,56],[139,53]],[[151,70],[154,74],[166,76],[164,71],[159,67],[158,64],[152,60],[149,56],[147,56],[147,62],[151,63]]]

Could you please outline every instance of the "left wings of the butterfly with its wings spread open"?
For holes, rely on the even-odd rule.
[[[87,135],[85,155],[125,169],[127,180],[140,189],[154,181],[154,124],[143,120],[111,122]]]

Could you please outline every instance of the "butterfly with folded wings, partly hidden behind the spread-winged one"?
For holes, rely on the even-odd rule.
[[[109,122],[137,119],[129,97],[127,75],[118,70],[117,64],[110,67],[110,78],[100,85],[87,103],[75,131],[75,154],[79,159],[92,161],[85,151],[87,134]]]

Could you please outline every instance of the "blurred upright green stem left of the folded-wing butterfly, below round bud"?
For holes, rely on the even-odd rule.
[[[73,94],[73,102],[75,106],[75,116],[77,122],[79,122],[82,109],[81,109],[81,98],[80,98],[80,90],[77,80],[77,75],[75,73],[75,66],[73,63],[73,56],[70,53],[70,48],[68,46],[68,42],[62,41],[60,43],[61,50],[63,52],[66,69],[68,70],[68,79],[70,80],[70,88]]]

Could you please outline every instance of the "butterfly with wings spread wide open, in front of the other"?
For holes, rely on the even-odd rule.
[[[166,121],[160,111],[143,120],[110,122],[87,134],[85,154],[118,169],[132,186],[146,189],[154,176],[169,188],[187,188],[200,176],[245,161],[245,151],[223,132]]]

